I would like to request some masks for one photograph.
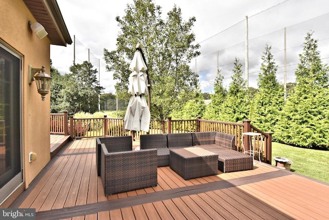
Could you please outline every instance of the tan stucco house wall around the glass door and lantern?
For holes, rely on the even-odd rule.
[[[35,82],[28,84],[28,65],[46,67],[50,74],[50,41],[39,39],[28,26],[34,17],[21,0],[1,0],[0,41],[23,57],[22,78],[22,143],[25,188],[50,160],[50,95],[42,101]],[[36,160],[29,163],[29,152]]]

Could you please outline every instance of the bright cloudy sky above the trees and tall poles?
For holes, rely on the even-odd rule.
[[[306,34],[304,29],[313,30],[313,26],[315,26],[313,20],[307,25],[303,23],[302,33],[294,30],[294,27],[298,27],[298,25],[294,25],[329,12],[327,0],[154,0],[153,2],[161,6],[162,19],[166,19],[167,13],[174,4],[181,9],[184,21],[195,16],[196,22],[192,31],[196,36],[196,43],[200,43],[201,55],[196,58],[196,61],[192,61],[191,69],[196,70],[199,74],[202,91],[209,93],[213,92],[217,65],[221,66],[224,86],[227,87],[230,82],[227,72],[232,69],[232,64],[226,65],[226,63],[233,63],[236,56],[239,56],[243,64],[245,62],[246,16],[248,16],[248,37],[249,40],[251,39],[249,43],[249,86],[257,87],[260,58],[252,58],[261,56],[265,43],[273,44],[274,51],[282,51],[281,46],[277,47],[276,44],[278,42],[280,45],[283,44],[281,35],[284,27],[291,27],[289,30],[297,33],[298,41],[303,42]],[[99,67],[100,85],[105,88],[103,92],[115,94],[116,81],[113,80],[113,74],[105,70],[103,49],[106,48],[109,51],[116,49],[116,38],[120,29],[115,17],[124,16],[127,4],[133,4],[133,0],[57,0],[57,3],[72,41],[74,36],[76,39],[76,63],[89,59],[94,68]],[[319,23],[326,24],[326,21]],[[323,28],[319,27],[319,29]],[[324,34],[327,35],[327,33],[324,31]],[[263,40],[262,38],[265,37],[266,40]],[[320,35],[316,35],[316,37],[322,39]],[[257,43],[252,41],[254,38],[257,39]],[[297,40],[295,37],[290,37],[288,41],[296,42]],[[324,43],[329,45],[329,42]],[[298,45],[296,47],[299,49],[292,49],[295,48],[292,46],[291,51],[294,50],[296,54],[300,53],[301,47]],[[327,48],[325,50],[329,51]],[[50,47],[52,64],[62,74],[68,73],[69,66],[73,64],[73,51],[74,44],[67,45],[67,47],[55,45]],[[219,51],[218,59],[217,51]],[[329,54],[325,53],[324,56],[329,57]],[[228,59],[230,61],[227,61]],[[296,59],[298,56],[291,58],[290,63],[296,64]],[[280,67],[283,65],[281,60],[281,58],[278,59]],[[287,64],[289,64],[289,59]],[[244,68],[243,66],[243,70],[245,70]],[[291,74],[287,76],[287,82],[294,82],[294,70],[288,69],[289,71]],[[282,74],[278,78],[280,82],[283,81]]]

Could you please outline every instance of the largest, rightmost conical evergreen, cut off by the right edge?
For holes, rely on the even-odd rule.
[[[305,146],[327,148],[329,145],[329,97],[327,65],[322,64],[317,40],[307,33],[300,54],[295,92],[290,94],[276,126],[279,141]]]

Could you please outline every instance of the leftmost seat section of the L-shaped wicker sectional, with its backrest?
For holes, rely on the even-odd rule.
[[[140,135],[140,149],[157,149],[158,167],[169,166],[167,134]]]

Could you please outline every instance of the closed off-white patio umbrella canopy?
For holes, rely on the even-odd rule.
[[[148,76],[145,71],[148,69],[141,52],[136,46],[134,58],[129,66],[132,73],[129,76],[128,93],[132,96],[129,100],[124,116],[125,131],[149,132],[151,113],[145,99],[148,94]]]

